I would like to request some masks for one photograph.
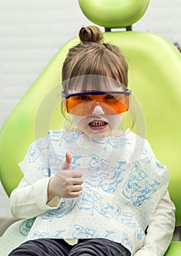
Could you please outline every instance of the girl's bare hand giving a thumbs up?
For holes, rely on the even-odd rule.
[[[47,202],[53,197],[78,197],[82,190],[82,172],[80,170],[69,170],[72,163],[72,156],[66,153],[66,161],[63,162],[60,170],[50,178],[47,188]]]

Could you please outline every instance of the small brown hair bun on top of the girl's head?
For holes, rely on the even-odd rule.
[[[97,26],[82,27],[79,33],[81,42],[101,42],[104,37]]]

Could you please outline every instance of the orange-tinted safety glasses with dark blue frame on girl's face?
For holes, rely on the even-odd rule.
[[[100,105],[105,115],[115,115],[128,111],[131,91],[82,91],[64,94],[63,102],[67,113],[75,116],[90,116],[96,105]]]

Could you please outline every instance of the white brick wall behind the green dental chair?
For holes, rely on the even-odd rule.
[[[180,0],[151,0],[133,28],[181,43],[180,15]],[[0,0],[0,127],[61,45],[89,24],[78,0]],[[10,217],[1,186],[0,201],[0,217]]]

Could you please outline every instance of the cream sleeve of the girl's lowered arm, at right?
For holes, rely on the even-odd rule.
[[[175,226],[174,203],[168,190],[158,203],[147,228],[147,236],[142,249],[134,256],[163,256],[172,241]]]

